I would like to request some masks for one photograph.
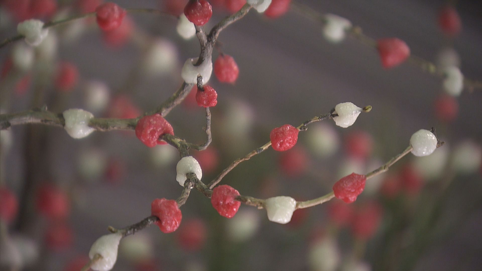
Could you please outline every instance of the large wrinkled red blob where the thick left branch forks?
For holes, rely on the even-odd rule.
[[[159,139],[165,134],[174,136],[174,129],[160,114],[142,117],[135,125],[135,136],[149,148],[167,144],[164,140]]]

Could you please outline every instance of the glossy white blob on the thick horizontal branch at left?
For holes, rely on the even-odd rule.
[[[95,129],[89,126],[90,119],[94,118],[91,112],[74,108],[65,110],[63,115],[65,119],[64,129],[69,136],[83,138],[94,132]]]

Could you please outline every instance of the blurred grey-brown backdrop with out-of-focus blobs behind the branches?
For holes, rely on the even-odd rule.
[[[0,2],[0,40],[34,16],[19,11],[23,2]],[[34,17],[67,18],[99,3],[53,2]],[[113,2],[178,13],[175,6],[182,10],[186,1]],[[211,3],[206,29],[236,10],[235,1]],[[400,38],[412,54],[482,79],[480,1],[456,1],[462,23],[456,35],[438,24],[445,1],[294,3],[348,18],[374,39]],[[184,61],[199,55],[199,41],[181,38],[176,25],[170,15],[128,13],[115,33],[103,33],[87,18],[51,27],[36,49],[24,41],[8,44],[0,49],[1,112],[47,105],[54,112],[83,108],[96,117],[134,118],[156,108],[180,86]],[[482,90],[446,95],[442,77],[408,62],[384,69],[374,48],[351,36],[327,41],[322,27],[294,8],[277,18],[252,10],[221,33],[213,61],[219,52],[231,55],[240,74],[234,84],[214,75],[210,80],[218,93],[211,110],[213,143],[191,152],[204,183],[268,142],[274,127],[297,126],[347,101],[373,110],[347,129],[333,121],[314,123],[294,149],[268,149],[222,183],[258,198],[308,200],[330,192],[342,176],[387,162],[419,129],[436,127],[446,144],[428,157],[408,155],[370,179],[355,203],[335,199],[298,210],[287,225],[269,222],[265,210],[246,205],[231,219],[221,217],[209,199],[192,191],[181,208],[180,228],[163,234],[152,226],[126,237],[113,270],[481,269]],[[204,141],[204,110],[192,95],[166,119],[176,136]],[[176,150],[149,149],[133,131],[75,140],[58,127],[14,126],[1,131],[0,157],[1,187],[18,200],[16,214],[1,220],[2,270],[80,270],[107,226],[138,222],[150,215],[152,200],[176,199],[181,192]]]

